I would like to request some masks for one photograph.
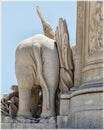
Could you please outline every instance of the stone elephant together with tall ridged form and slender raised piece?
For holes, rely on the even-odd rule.
[[[46,36],[39,34],[28,38],[22,41],[16,49],[15,71],[19,89],[18,115],[31,116],[32,113],[34,114],[34,109],[38,109],[36,106],[40,99],[37,96],[37,99],[34,100],[34,94],[31,97],[32,89],[41,88],[43,100],[41,116],[55,116],[57,87],[61,93],[68,92],[74,84],[70,38],[65,20],[59,19],[56,32],[53,34],[51,26],[44,20],[39,8],[37,8],[37,12]],[[37,93],[38,91],[36,95]],[[59,104],[59,99],[57,104]]]

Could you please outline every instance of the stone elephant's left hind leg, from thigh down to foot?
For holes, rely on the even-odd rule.
[[[34,84],[33,68],[31,58],[27,53],[18,52],[16,55],[16,77],[19,89],[19,110],[18,115],[31,116],[30,98],[31,88]],[[22,53],[22,54],[21,54]]]

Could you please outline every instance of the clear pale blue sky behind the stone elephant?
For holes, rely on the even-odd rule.
[[[70,43],[74,45],[76,42],[76,2],[2,2],[1,96],[11,92],[11,85],[17,84],[14,65],[18,43],[35,34],[43,34],[42,25],[35,10],[37,5],[54,30],[58,25],[59,18],[65,18],[68,24]]]

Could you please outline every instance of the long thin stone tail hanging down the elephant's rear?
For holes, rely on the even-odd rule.
[[[35,63],[34,65],[36,67],[38,81],[42,88],[43,95],[46,96],[45,98],[46,98],[47,109],[50,109],[49,89],[43,76],[42,54],[41,54],[42,50],[39,43],[33,45],[33,53],[34,53],[34,63]]]

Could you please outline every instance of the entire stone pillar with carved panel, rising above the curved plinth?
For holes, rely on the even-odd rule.
[[[103,81],[102,1],[77,3],[74,85]],[[86,23],[86,24],[85,24]]]

